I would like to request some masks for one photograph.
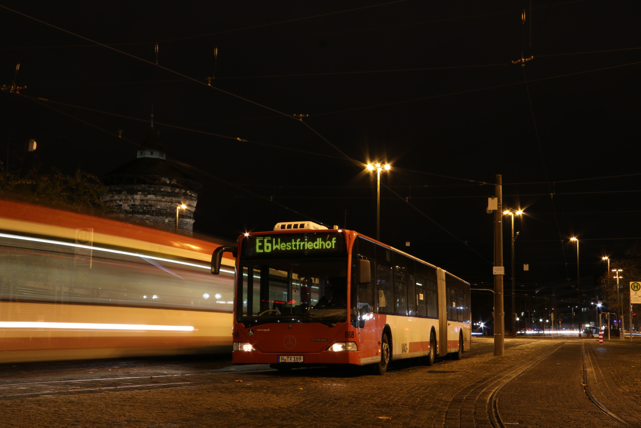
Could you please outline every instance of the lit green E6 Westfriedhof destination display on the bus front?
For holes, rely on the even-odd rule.
[[[283,255],[344,252],[345,237],[337,232],[249,236],[242,244],[244,257],[282,257]]]

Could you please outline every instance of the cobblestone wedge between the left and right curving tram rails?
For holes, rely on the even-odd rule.
[[[499,393],[506,423],[526,427],[620,427],[583,390],[583,341],[565,343]]]

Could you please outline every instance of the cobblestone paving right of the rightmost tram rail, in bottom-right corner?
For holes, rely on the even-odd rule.
[[[623,420],[641,426],[641,344],[592,341],[586,345],[592,395]]]

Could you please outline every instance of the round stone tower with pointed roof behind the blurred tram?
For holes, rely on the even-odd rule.
[[[152,115],[153,119],[153,115]],[[202,187],[194,178],[167,160],[153,120],[136,158],[107,173],[102,178],[108,192],[103,202],[116,210],[116,218],[140,226],[192,236],[194,210],[198,201],[196,189]]]

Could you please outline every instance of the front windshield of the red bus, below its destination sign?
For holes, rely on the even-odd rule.
[[[347,321],[347,257],[243,262],[236,316],[246,327],[272,322]]]

